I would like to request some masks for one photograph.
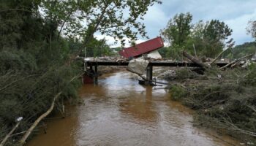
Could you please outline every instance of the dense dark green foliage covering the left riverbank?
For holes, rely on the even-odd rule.
[[[50,22],[41,18],[38,1],[1,1],[0,7],[2,139],[20,116],[24,120],[16,132],[26,131],[59,91],[60,99],[75,99],[80,80],[69,80],[80,73],[82,64],[66,64],[73,47],[67,39],[57,39]]]

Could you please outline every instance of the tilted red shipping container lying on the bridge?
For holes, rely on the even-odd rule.
[[[157,50],[160,47],[164,46],[164,42],[161,37],[157,37],[154,39],[150,39],[146,42],[142,42],[138,45],[127,47],[123,50],[119,51],[119,54],[124,56],[125,58],[136,57],[138,55],[142,55],[144,53],[149,53],[153,50]]]

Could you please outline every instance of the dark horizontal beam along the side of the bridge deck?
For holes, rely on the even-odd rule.
[[[117,61],[86,61],[87,66],[128,66],[129,61],[117,62]],[[227,63],[219,62],[217,66],[222,67]],[[173,61],[150,61],[149,66],[189,66],[199,67],[193,62],[173,62]]]

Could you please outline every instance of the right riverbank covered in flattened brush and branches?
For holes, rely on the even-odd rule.
[[[214,128],[241,140],[241,145],[256,144],[256,67],[248,69],[208,69],[197,74],[178,69],[166,75],[178,85],[170,87],[170,97],[195,110],[194,124]],[[170,76],[170,77],[168,77]]]

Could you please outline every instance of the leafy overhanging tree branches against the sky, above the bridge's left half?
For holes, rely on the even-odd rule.
[[[69,37],[79,35],[83,37],[83,45],[87,46],[96,31],[121,39],[122,44],[124,37],[137,39],[138,34],[146,37],[145,26],[140,20],[143,20],[148,7],[155,3],[161,4],[161,1],[44,0],[42,7],[45,7],[46,18],[54,22],[55,27],[61,27],[59,34],[63,30]],[[129,15],[124,16],[124,13]]]

